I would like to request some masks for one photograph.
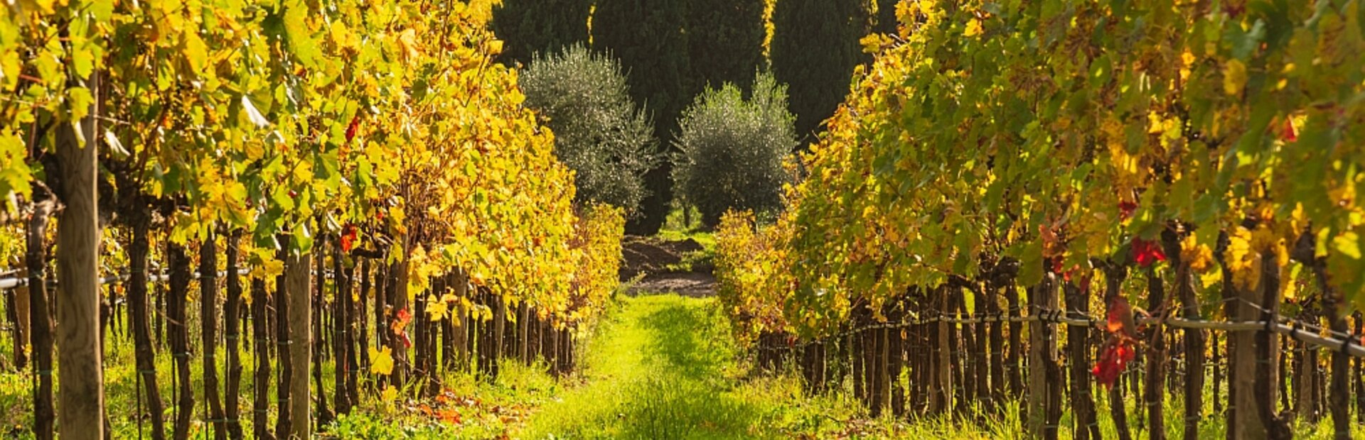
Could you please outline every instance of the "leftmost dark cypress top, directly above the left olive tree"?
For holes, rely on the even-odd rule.
[[[502,0],[493,7],[493,33],[502,40],[502,61],[530,63],[588,40],[592,0]]]

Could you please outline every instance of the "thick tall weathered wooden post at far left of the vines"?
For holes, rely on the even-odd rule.
[[[100,74],[72,80],[100,95]],[[61,365],[57,414],[63,439],[104,437],[104,357],[100,351],[100,223],[96,191],[96,135],[100,114],[94,99],[78,124],[56,131],[60,163],[57,218],[57,365]],[[76,131],[81,132],[76,132]]]

